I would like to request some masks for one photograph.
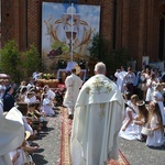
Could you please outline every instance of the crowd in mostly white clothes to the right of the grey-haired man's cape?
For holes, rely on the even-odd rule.
[[[128,72],[122,66],[114,74],[125,101],[125,116],[119,136],[146,142],[150,147],[165,145],[164,78],[158,69]]]

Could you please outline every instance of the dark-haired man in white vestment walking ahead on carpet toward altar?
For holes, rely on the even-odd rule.
[[[82,80],[76,75],[76,68],[73,68],[72,75],[66,77],[65,85],[66,94],[63,105],[66,106],[68,109],[68,119],[73,119],[76,99],[82,85]]]

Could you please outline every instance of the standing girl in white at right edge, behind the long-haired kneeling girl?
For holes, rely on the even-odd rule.
[[[164,97],[163,97],[163,87],[162,85],[158,82],[155,87],[155,90],[153,92],[153,97],[154,97],[154,101],[158,103],[160,106],[160,110],[161,110],[161,114],[162,114],[162,120],[163,120],[163,124],[165,125],[165,110],[164,110]]]

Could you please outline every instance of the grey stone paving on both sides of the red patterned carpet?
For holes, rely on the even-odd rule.
[[[33,154],[36,165],[59,165],[61,127],[61,114],[48,118],[47,129],[34,141],[40,145]],[[120,148],[131,165],[165,165],[165,147],[150,148],[144,142],[119,140]]]

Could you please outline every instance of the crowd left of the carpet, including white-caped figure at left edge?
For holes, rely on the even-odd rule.
[[[1,80],[0,94],[0,136],[3,139],[0,142],[0,164],[34,165],[32,154],[38,146],[33,141],[47,127],[47,117],[58,113],[58,89],[53,90],[48,85],[40,87],[36,79],[31,77],[18,88]]]

